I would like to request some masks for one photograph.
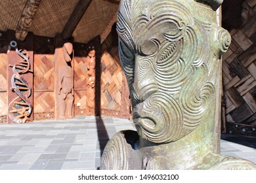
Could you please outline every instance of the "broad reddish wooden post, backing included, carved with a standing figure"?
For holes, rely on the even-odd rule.
[[[72,41],[55,37],[54,95],[55,119],[74,117],[74,49]]]

